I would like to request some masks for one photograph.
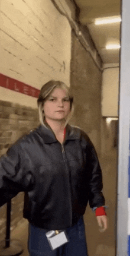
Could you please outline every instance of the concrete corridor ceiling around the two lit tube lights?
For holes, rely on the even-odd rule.
[[[106,50],[108,43],[120,43],[121,23],[95,25],[96,18],[121,15],[120,0],[75,0],[80,8],[79,21],[89,29],[104,64],[119,63],[119,49]]]

